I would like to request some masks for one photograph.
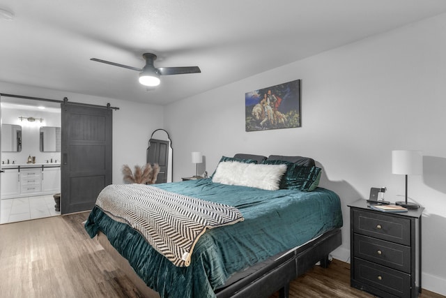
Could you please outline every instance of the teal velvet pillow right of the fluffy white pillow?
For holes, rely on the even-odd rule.
[[[279,188],[295,189],[296,191],[314,191],[319,185],[322,169],[296,165],[289,161],[263,161],[269,165],[286,165],[286,172],[280,181]]]

